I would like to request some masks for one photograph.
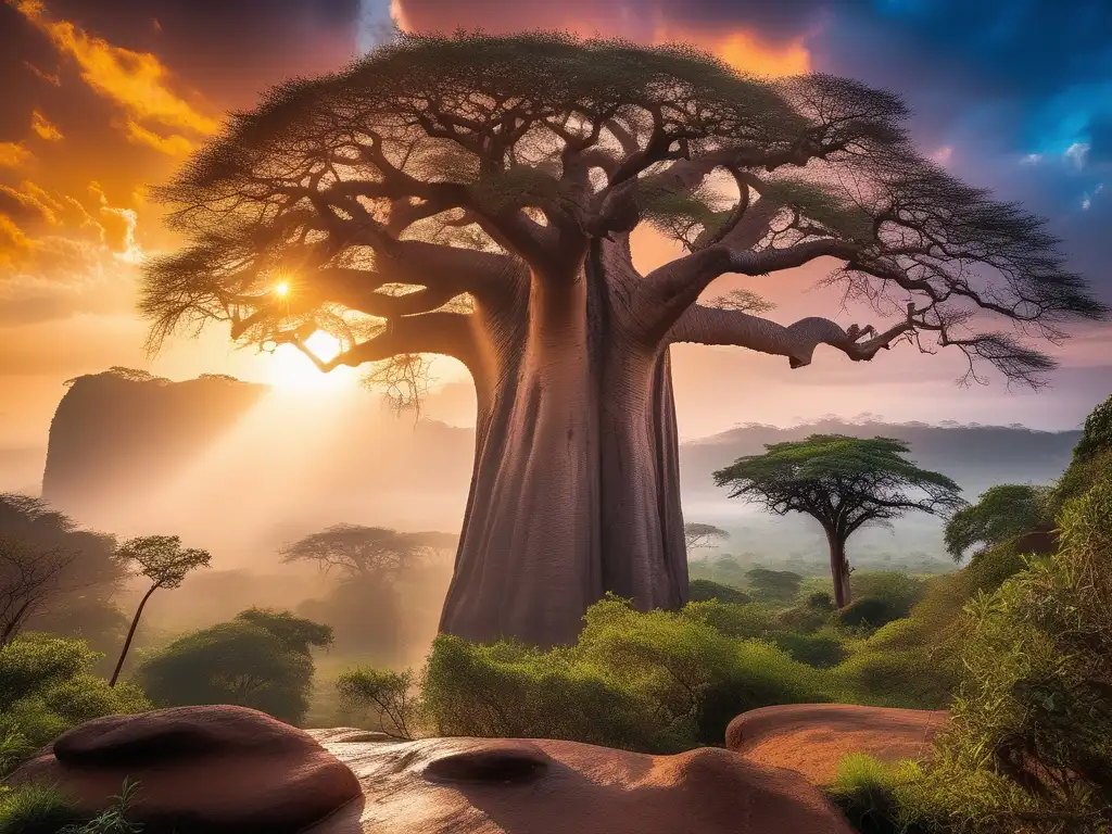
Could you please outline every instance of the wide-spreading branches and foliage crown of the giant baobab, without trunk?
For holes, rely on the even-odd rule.
[[[401,33],[234,113],[156,191],[190,242],[147,270],[151,345],[222,320],[234,338],[310,356],[306,337],[332,332],[344,349],[322,368],[470,361],[473,300],[505,295],[523,262],[556,271],[585,238],[645,222],[689,250],[638,290],[657,337],[683,318],[678,340],[798,367],[821,342],[870,359],[933,335],[1036,383],[1051,359],[974,325],[1000,315],[1056,339],[1060,322],[1108,309],[1041,220],[920,157],[906,116],[856,81],[754,78],[685,46]],[[736,306],[683,317],[719,275],[820,257],[842,262],[832,279],[847,292],[905,315],[883,332],[784,328]]]

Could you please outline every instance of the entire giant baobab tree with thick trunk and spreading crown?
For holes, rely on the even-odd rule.
[[[159,191],[189,242],[147,268],[151,345],[216,320],[325,371],[457,358],[478,414],[441,628],[569,642],[605,592],[686,599],[669,345],[798,368],[822,344],[857,361],[933,336],[1032,380],[1052,363],[971,310],[1052,337],[1104,312],[1037,220],[917,157],[904,117],[854,81],[761,80],[686,47],[403,34],[234,115]],[[638,272],[642,224],[686,254]],[[820,258],[898,319],[697,302]],[[318,329],[342,345],[328,361]]]

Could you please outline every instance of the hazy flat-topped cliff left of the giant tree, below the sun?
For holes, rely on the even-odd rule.
[[[42,497],[79,517],[100,497],[171,477],[267,390],[231,377],[171,383],[122,368],[68,385],[50,423]]]

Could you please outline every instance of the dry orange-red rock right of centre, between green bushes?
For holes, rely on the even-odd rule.
[[[838,762],[867,753],[882,762],[922,758],[945,726],[945,712],[848,704],[792,704],[742,713],[726,727],[726,747],[751,762],[785,767],[827,784]]]

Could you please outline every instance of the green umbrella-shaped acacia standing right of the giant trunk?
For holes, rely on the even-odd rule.
[[[907,451],[906,443],[887,437],[811,435],[765,444],[764,455],[738,458],[716,471],[714,483],[770,513],[817,520],[830,543],[834,603],[842,608],[850,602],[850,536],[911,510],[943,515],[965,506],[954,481],[920,469],[903,457]]]

